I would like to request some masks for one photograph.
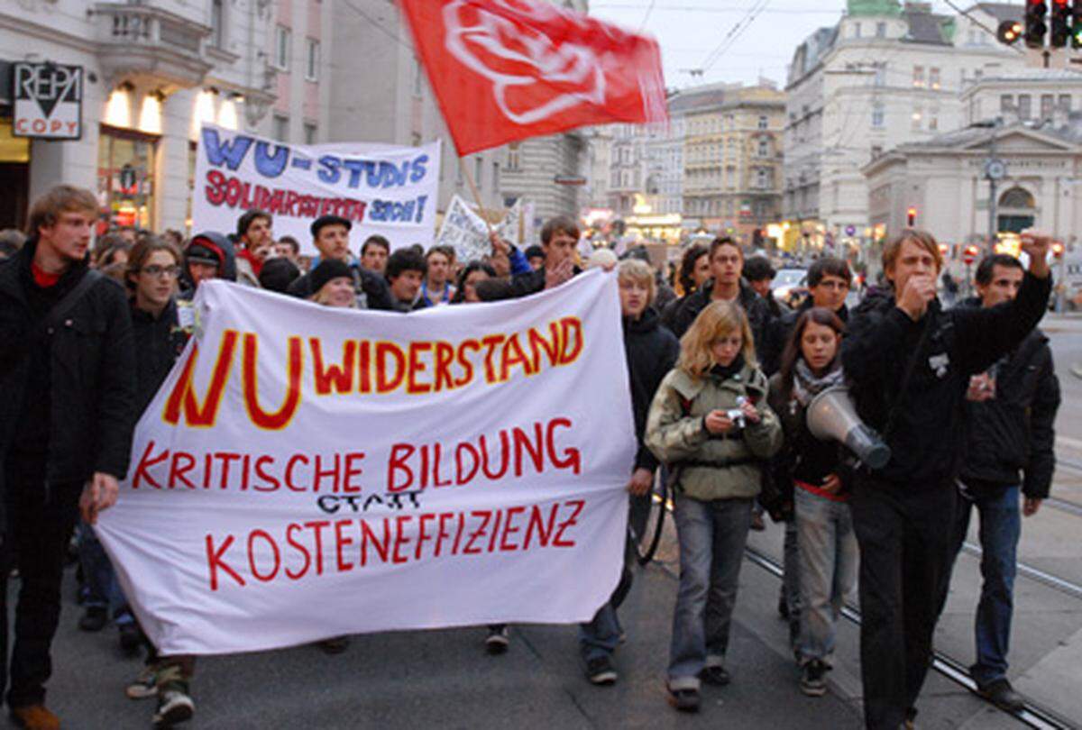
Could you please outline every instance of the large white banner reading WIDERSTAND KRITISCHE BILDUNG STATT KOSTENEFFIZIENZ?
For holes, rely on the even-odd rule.
[[[166,653],[589,621],[635,451],[616,277],[400,315],[211,281],[97,531]]]

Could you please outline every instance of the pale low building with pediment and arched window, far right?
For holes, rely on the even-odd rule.
[[[1043,107],[1040,118],[1019,102],[1027,97]],[[900,145],[863,168],[879,236],[897,234],[912,215],[947,243],[984,243],[990,231],[1037,227],[1073,245],[1082,229],[1082,114],[1071,108],[1082,105],[1082,75],[1034,69],[986,77],[963,99],[967,114],[980,108],[994,118]],[[994,181],[991,159],[1002,162]]]

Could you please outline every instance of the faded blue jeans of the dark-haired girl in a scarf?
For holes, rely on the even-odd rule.
[[[830,663],[834,626],[857,584],[857,536],[849,505],[795,489],[800,545],[800,661]]]

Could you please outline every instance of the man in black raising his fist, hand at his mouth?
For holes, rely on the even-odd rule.
[[[857,470],[850,501],[868,728],[894,730],[916,714],[951,557],[969,376],[1016,347],[1047,306],[1051,238],[1026,233],[1021,244],[1030,265],[1014,301],[945,311],[936,298],[937,241],[902,231],[883,249],[892,291],[865,298],[842,345],[857,413],[890,450],[885,465]]]

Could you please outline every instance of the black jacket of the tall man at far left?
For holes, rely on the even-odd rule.
[[[0,460],[11,453],[28,397],[35,335],[27,287],[37,244],[0,262]],[[79,269],[82,269],[81,271]],[[70,273],[84,276],[85,266]],[[68,275],[65,275],[68,276]],[[40,318],[39,318],[40,321]],[[95,472],[128,474],[135,415],[134,348],[128,300],[102,277],[49,333],[49,483],[78,483]],[[3,487],[0,468],[0,488]]]

